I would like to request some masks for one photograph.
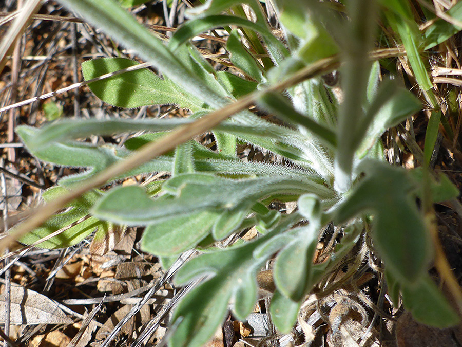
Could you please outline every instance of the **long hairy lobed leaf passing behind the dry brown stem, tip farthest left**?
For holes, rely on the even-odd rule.
[[[60,138],[64,138],[63,134],[66,134],[66,131],[68,131],[69,137],[78,137],[78,132],[74,133],[75,135],[73,135],[72,132],[75,132],[76,129],[91,129],[92,122],[89,121],[89,124],[85,124],[85,122],[82,121],[70,122],[68,124],[66,124],[66,121],[60,123],[61,124],[56,124],[56,129],[49,130],[50,132],[54,133],[53,136],[57,135]],[[95,124],[98,124],[98,122]],[[98,127],[101,127],[101,129],[104,130],[105,125],[107,125],[106,129],[110,129],[111,121],[107,123],[103,122],[103,124],[98,125]],[[120,124],[121,127],[124,125],[127,127],[127,130],[130,129],[129,124],[125,122]],[[143,125],[140,124],[140,127],[143,127]],[[146,127],[148,126],[146,125]],[[113,145],[93,146],[89,143],[82,142],[51,142],[51,145],[48,145],[46,148],[42,148],[41,146],[36,146],[35,143],[42,142],[42,134],[44,137],[48,136],[46,135],[48,133],[46,127],[38,130],[31,127],[19,126],[16,128],[16,132],[18,135],[20,135],[21,139],[26,144],[28,150],[34,156],[43,161],[52,162],[61,166],[91,168],[90,170],[84,171],[83,173],[62,178],[60,180],[60,184],[65,186],[78,184],[78,182],[81,182],[82,180],[97,174],[112,163],[127,158],[132,153],[131,151],[127,151],[124,148],[115,148]],[[144,134],[127,140],[125,145],[131,150],[137,150],[142,145],[152,140],[156,140],[163,135],[164,133]],[[307,175],[312,176],[312,179],[317,181],[319,184],[322,184],[323,182],[319,176],[316,176],[313,174],[313,172],[304,169],[287,167],[277,164],[268,164],[264,162],[245,163],[236,157],[233,158],[225,156],[223,153],[215,153],[205,149],[197,142],[193,142],[193,144],[195,147],[193,153],[194,166],[198,171],[233,175]],[[37,147],[39,149],[37,149]],[[160,156],[145,163],[138,169],[134,169],[130,172],[127,172],[125,175],[115,177],[114,179],[129,177],[130,175],[137,175],[141,173],[170,171],[173,167],[172,156],[173,153],[167,153],[164,156]]]

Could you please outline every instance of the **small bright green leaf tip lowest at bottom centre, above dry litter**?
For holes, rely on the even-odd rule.
[[[282,334],[288,334],[297,320],[300,303],[287,298],[276,290],[271,298],[271,319]]]

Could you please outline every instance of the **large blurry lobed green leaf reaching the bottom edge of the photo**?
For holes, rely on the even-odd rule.
[[[256,299],[256,273],[273,253],[261,253],[257,259],[252,254],[258,246],[296,221],[294,216],[287,216],[275,229],[254,242],[202,254],[180,268],[175,276],[177,284],[201,276],[209,279],[191,290],[175,310],[172,324],[178,322],[178,327],[170,345],[202,347],[224,319],[232,297],[236,314],[244,317],[250,312]]]

